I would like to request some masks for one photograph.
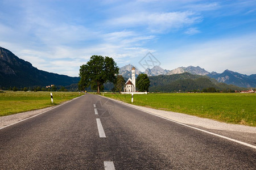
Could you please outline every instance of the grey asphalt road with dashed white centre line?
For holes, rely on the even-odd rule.
[[[256,150],[86,94],[0,130],[1,169],[255,169]]]

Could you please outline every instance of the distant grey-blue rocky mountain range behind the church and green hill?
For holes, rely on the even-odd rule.
[[[121,67],[120,70],[122,71],[119,71],[119,74],[126,78],[130,77],[132,67],[133,65],[130,65],[130,64]],[[141,72],[138,71],[138,74],[140,73]],[[146,69],[143,73],[147,74],[148,76],[190,73],[193,75],[206,75],[209,78],[216,79],[217,82],[232,84],[238,87],[246,87],[246,88],[256,87],[256,74],[245,75],[245,74],[240,74],[230,70],[225,70],[223,73],[216,73],[216,72],[209,73],[207,70],[202,69],[199,66],[178,67],[177,69],[174,69],[171,71],[162,69],[160,66],[154,66],[152,69]]]

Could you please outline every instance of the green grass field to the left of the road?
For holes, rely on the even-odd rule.
[[[0,116],[42,109],[79,96],[79,92],[12,92],[0,93]],[[81,94],[82,95],[82,94]]]

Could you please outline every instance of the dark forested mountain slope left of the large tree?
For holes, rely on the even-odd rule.
[[[0,84],[2,87],[10,86],[68,86],[78,83],[79,77],[59,75],[38,70],[30,62],[18,58],[12,52],[0,47]]]

